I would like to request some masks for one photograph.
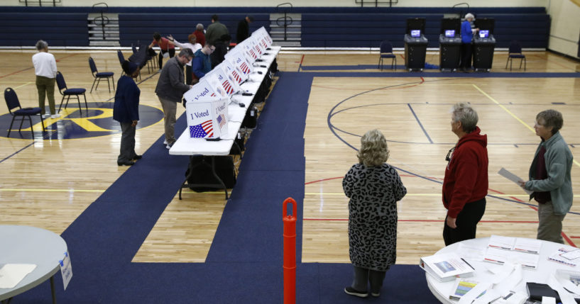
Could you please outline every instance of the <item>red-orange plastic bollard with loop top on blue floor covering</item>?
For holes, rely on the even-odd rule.
[[[292,215],[287,215],[288,203],[292,204]],[[286,198],[282,204],[284,223],[284,304],[296,303],[296,201]]]

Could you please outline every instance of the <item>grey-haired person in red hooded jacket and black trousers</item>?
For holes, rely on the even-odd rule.
[[[474,239],[477,223],[486,211],[487,135],[480,134],[477,121],[477,112],[468,103],[454,105],[451,126],[459,141],[447,154],[449,163],[443,180],[445,246]]]

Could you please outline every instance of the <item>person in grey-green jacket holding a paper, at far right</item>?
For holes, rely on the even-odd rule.
[[[534,129],[542,142],[537,146],[530,166],[530,180],[519,181],[529,191],[530,201],[538,202],[537,239],[564,244],[562,220],[572,206],[570,171],[574,157],[559,130],[564,125],[562,113],[546,110],[537,114]]]

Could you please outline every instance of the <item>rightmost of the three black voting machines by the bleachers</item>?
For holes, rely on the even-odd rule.
[[[493,50],[496,48],[496,38],[493,38],[493,29],[496,21],[493,18],[476,18],[475,27],[479,28],[474,38],[474,69],[489,72],[493,63]],[[487,38],[481,37],[482,30],[488,30]]]

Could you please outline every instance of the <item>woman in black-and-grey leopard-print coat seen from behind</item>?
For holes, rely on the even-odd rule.
[[[349,201],[349,254],[354,266],[349,295],[362,298],[381,294],[383,279],[397,258],[397,201],[407,193],[397,170],[386,164],[387,141],[378,130],[361,138],[361,150],[344,176],[342,188]]]

